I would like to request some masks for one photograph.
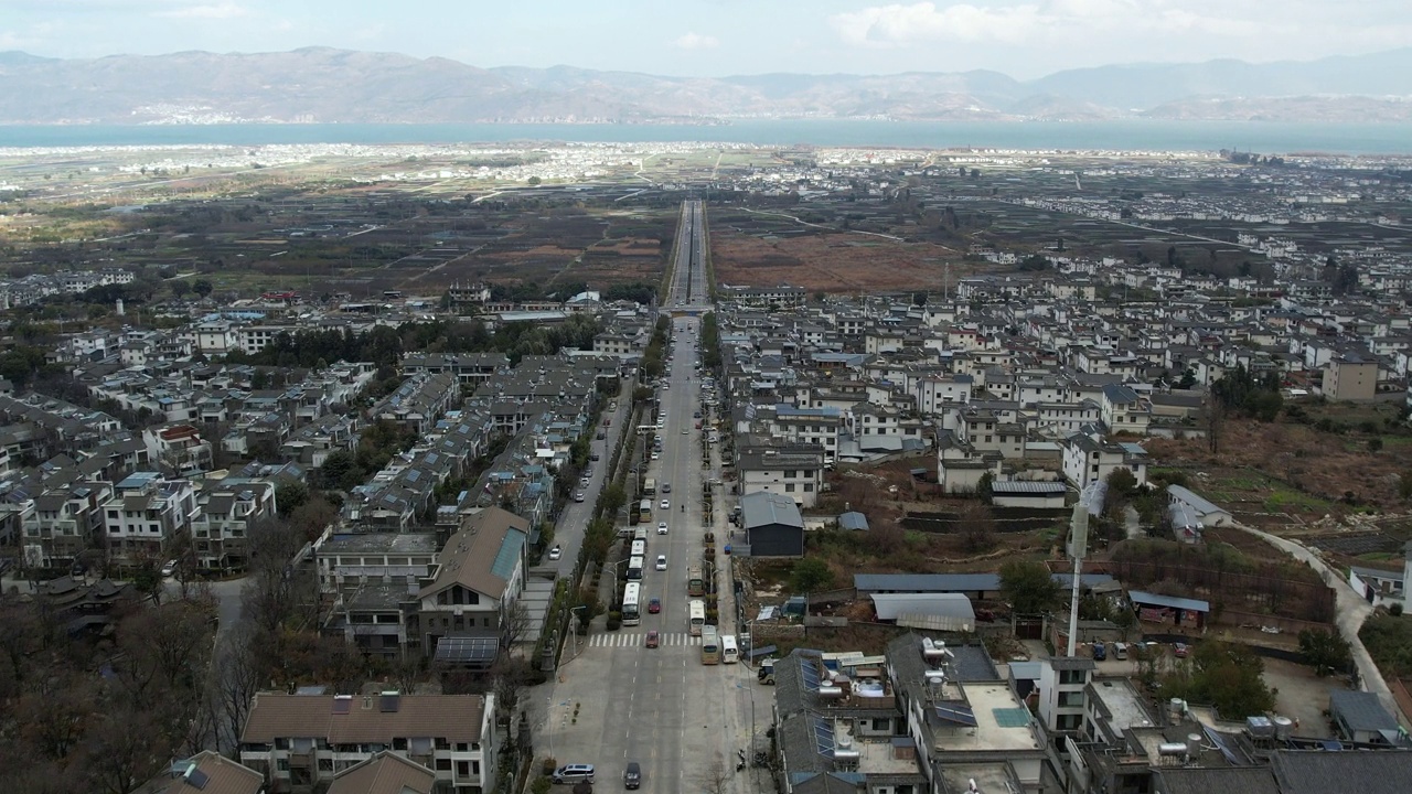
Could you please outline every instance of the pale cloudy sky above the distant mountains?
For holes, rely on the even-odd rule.
[[[0,51],[339,47],[678,76],[1308,61],[1412,42],[1409,0],[0,0]]]

